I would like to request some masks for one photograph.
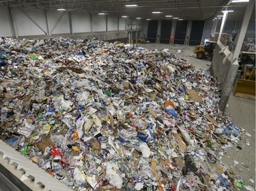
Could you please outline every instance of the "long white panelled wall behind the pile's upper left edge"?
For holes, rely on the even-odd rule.
[[[0,7],[0,26],[0,36],[7,37],[90,36],[87,33],[95,33],[92,36],[100,35],[100,38],[106,39],[117,36],[123,38],[124,33],[117,35],[106,31],[125,31],[126,19],[98,14],[49,12],[35,8],[9,10],[8,7]]]

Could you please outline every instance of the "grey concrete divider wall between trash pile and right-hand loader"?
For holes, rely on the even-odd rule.
[[[221,84],[221,111],[226,109],[238,71],[238,61],[232,62],[232,59],[233,54],[221,42],[218,42],[212,58],[211,74]]]

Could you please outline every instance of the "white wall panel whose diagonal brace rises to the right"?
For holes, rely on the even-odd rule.
[[[70,18],[68,12],[47,12],[47,18],[51,34],[70,33]],[[61,20],[59,20],[60,18]],[[57,24],[58,21],[59,23]],[[57,24],[56,27],[55,24]]]

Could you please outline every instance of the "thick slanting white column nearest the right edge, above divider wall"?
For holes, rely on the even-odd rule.
[[[242,48],[242,44],[244,42],[244,37],[248,28],[248,23],[251,18],[251,14],[253,12],[253,7],[255,7],[255,0],[250,0],[247,7],[246,11],[244,14],[244,19],[242,20],[242,27],[240,31],[240,35],[238,37],[238,43],[236,44],[235,51],[233,52],[233,61],[234,62],[236,59],[238,59],[238,56],[240,54],[240,50]]]

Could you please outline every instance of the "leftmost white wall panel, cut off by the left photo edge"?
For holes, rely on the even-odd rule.
[[[0,26],[0,36],[12,36],[10,14],[8,8],[6,7],[0,7]]]

